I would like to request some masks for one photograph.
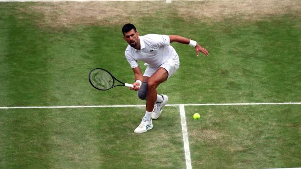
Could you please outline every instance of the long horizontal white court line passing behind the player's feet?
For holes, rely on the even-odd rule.
[[[245,105],[301,105],[301,102],[285,103],[204,103],[204,104],[167,104],[165,106],[245,106]],[[17,106],[0,109],[57,109],[57,108],[109,108],[109,107],[145,107],[145,105],[96,105],[96,106]]]

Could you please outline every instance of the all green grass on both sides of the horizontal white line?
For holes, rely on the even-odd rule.
[[[133,81],[122,25],[40,27],[41,14],[24,12],[30,4],[0,3],[0,107],[145,104],[127,88],[101,92],[87,79],[102,67]],[[167,9],[136,26],[140,35],[178,34],[209,50],[196,58],[193,48],[172,43],[180,68],[158,88],[169,104],[301,102],[300,16],[193,22]],[[301,167],[299,105],[185,109],[193,168]],[[143,113],[0,109],[0,168],[185,168],[178,108],[133,134]]]

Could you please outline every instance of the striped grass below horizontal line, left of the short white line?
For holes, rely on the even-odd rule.
[[[0,168],[185,168],[178,109],[165,108],[152,130],[135,134],[140,111],[1,110]]]

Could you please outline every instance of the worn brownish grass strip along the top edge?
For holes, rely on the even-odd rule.
[[[39,13],[41,27],[69,28],[74,25],[123,25],[145,18],[178,17],[192,22],[223,19],[259,20],[265,16],[300,13],[298,0],[204,0],[204,1],[130,1],[130,2],[38,2],[20,7],[26,13]],[[164,15],[162,15],[163,13]]]

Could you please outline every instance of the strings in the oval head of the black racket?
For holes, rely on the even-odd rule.
[[[108,90],[114,84],[112,75],[102,69],[95,69],[91,72],[91,82],[93,86],[101,90]]]

